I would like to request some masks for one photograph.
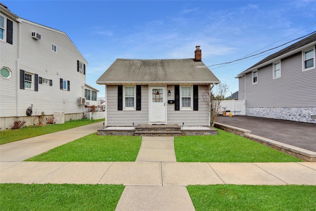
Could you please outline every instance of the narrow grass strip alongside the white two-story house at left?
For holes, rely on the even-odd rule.
[[[47,126],[28,126],[21,129],[8,129],[0,131],[0,145],[14,141],[19,141],[26,138],[32,138],[39,135],[44,135],[52,132],[57,132],[65,129],[71,129],[74,127],[85,126],[93,123],[103,122],[104,119],[100,120],[73,120],[65,122],[64,124],[54,124]]]

